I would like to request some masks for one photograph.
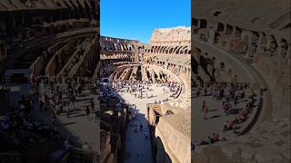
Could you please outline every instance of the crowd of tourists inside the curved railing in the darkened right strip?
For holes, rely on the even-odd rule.
[[[254,110],[256,102],[256,93],[248,83],[239,82],[208,82],[203,87],[196,88],[196,97],[211,96],[216,101],[222,101],[221,108],[226,116],[235,115],[233,120],[226,120],[222,133],[233,130],[234,134],[238,134],[241,128],[239,125],[248,119],[249,114]],[[246,101],[242,110],[237,110],[236,105],[242,101]],[[204,119],[209,120],[209,108],[206,101],[202,102]],[[208,137],[209,141],[202,139],[197,145],[212,144],[220,140],[218,134],[214,133],[214,137]],[[223,138],[225,139],[225,137]]]

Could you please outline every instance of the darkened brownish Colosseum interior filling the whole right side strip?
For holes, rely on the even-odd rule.
[[[289,3],[192,4],[192,162],[290,162]]]

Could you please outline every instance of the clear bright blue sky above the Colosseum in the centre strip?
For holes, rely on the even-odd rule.
[[[148,43],[156,28],[190,26],[191,0],[100,0],[101,35]]]

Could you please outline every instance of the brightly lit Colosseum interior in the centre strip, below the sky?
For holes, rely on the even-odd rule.
[[[101,36],[103,162],[190,162],[190,27],[150,43]]]

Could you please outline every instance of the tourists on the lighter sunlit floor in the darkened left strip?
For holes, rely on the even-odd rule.
[[[88,78],[52,78],[48,79],[44,76],[31,76],[32,83],[31,94],[35,98],[39,98],[40,110],[51,112],[51,120],[55,124],[55,115],[65,112],[66,117],[70,117],[70,112],[76,109],[76,98],[80,97],[85,90],[96,94],[96,87]],[[44,91],[40,91],[40,83],[44,87]],[[85,114],[92,114],[95,111],[95,101],[91,99],[90,105],[87,106]]]

